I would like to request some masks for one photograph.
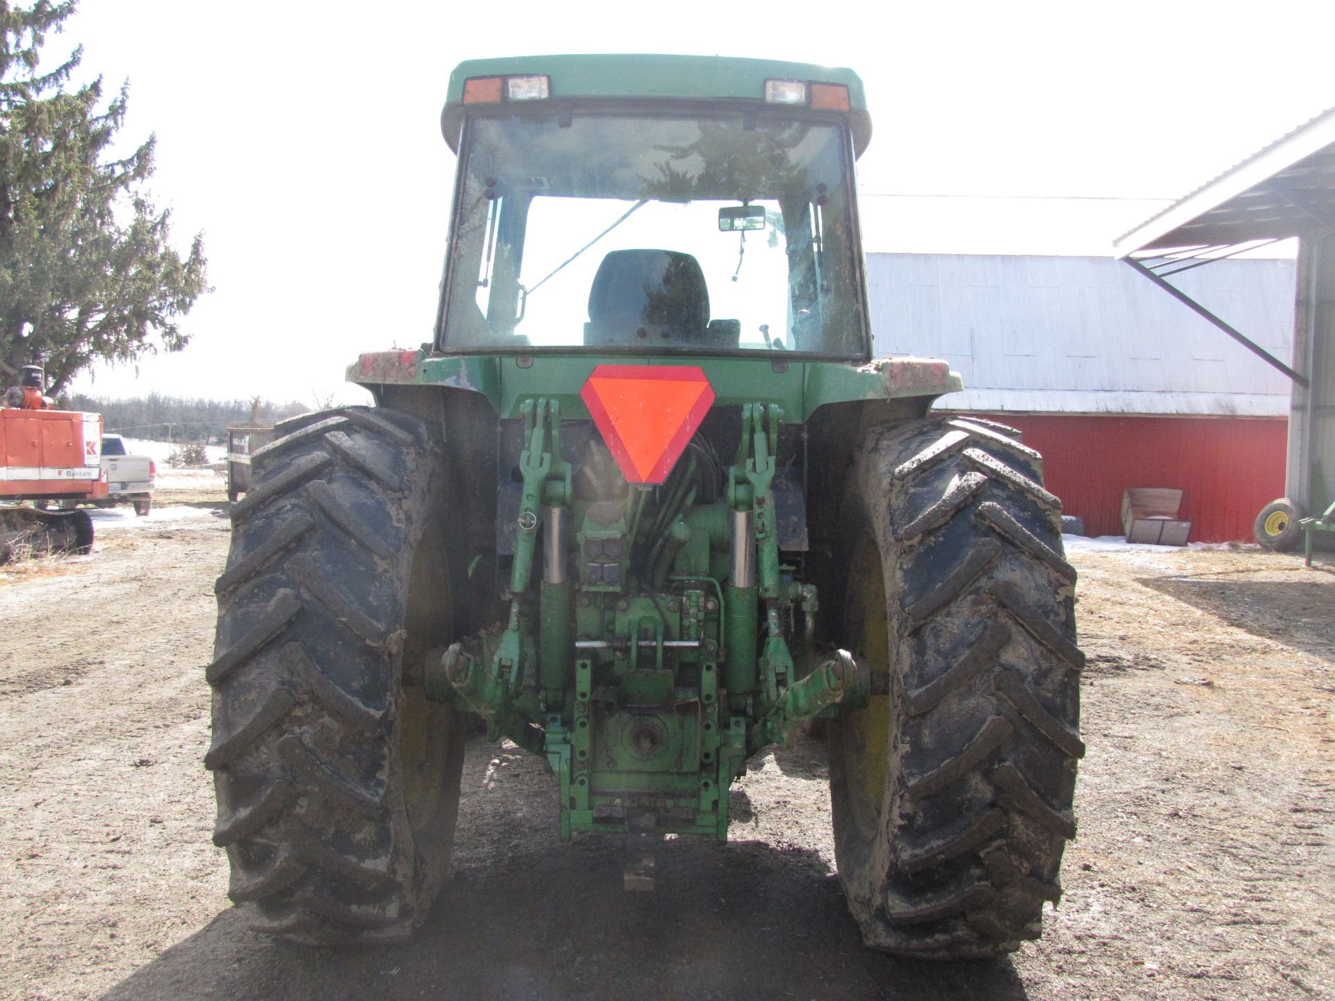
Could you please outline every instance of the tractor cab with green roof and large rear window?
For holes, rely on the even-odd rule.
[[[463,63],[437,324],[449,355],[868,360],[846,69],[676,57]],[[700,65],[689,65],[698,63]]]

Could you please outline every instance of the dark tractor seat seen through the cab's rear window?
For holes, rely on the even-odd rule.
[[[709,288],[700,262],[668,250],[611,251],[598,266],[589,291],[585,344],[653,347],[657,344],[737,346],[741,324],[709,322]],[[716,343],[718,342],[718,343]]]

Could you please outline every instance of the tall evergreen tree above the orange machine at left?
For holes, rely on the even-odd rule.
[[[182,258],[146,191],[155,137],[111,156],[128,88],[72,87],[81,47],[43,59],[75,7],[0,0],[0,368],[43,364],[52,394],[96,360],[179,351],[208,291],[202,235]]]

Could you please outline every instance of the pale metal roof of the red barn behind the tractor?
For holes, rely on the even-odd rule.
[[[1291,354],[1292,260],[1220,260],[1179,284]],[[1283,416],[1288,380],[1112,258],[868,255],[877,355],[944,358],[940,406]]]

